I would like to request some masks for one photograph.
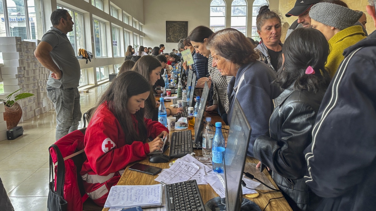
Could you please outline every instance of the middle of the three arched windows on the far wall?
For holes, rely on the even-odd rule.
[[[231,3],[231,28],[237,29],[247,36],[247,2],[233,0]]]

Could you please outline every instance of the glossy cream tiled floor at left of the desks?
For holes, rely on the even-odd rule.
[[[95,106],[107,86],[105,83],[80,94],[82,114]],[[23,136],[0,141],[0,177],[15,211],[47,209],[48,148],[55,142],[55,118],[55,110],[51,110],[26,120],[18,125],[24,128]]]

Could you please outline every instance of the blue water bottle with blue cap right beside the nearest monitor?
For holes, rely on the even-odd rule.
[[[224,160],[224,138],[222,135],[222,123],[215,122],[215,134],[212,143],[213,171],[223,173]]]

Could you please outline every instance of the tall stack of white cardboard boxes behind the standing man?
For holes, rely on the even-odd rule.
[[[29,92],[34,96],[18,101],[22,108],[21,121],[38,116],[52,109],[47,98],[47,79],[49,70],[34,56],[36,44],[40,41],[22,41],[20,37],[0,37],[0,52],[4,66],[1,76],[5,95],[18,89],[19,93]],[[14,96],[17,94],[14,94]],[[0,128],[1,130],[1,128]]]

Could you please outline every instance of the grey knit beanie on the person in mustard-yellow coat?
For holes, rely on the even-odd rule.
[[[326,2],[317,3],[309,11],[311,19],[340,30],[353,26],[362,14],[362,12]]]

